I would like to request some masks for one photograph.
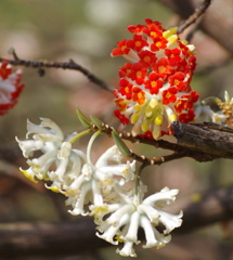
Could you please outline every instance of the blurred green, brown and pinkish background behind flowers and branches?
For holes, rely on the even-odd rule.
[[[125,28],[128,25],[143,24],[146,17],[161,22],[165,28],[180,23],[181,17],[172,11],[172,6],[169,4],[166,6],[166,2],[157,0],[1,1],[0,56],[11,57],[8,55],[8,50],[14,48],[18,57],[24,60],[67,62],[73,58],[114,89],[118,83],[118,67],[122,66],[125,61],[122,57],[112,58],[109,53],[117,41],[131,37]],[[193,1],[194,5],[199,2]],[[215,5],[216,2],[213,0],[207,11],[210,18],[223,16],[225,21],[217,22],[230,23],[233,13],[232,2],[220,1],[221,9]],[[195,29],[195,26],[185,30],[183,37],[192,29]],[[224,90],[233,96],[232,52],[222,42],[213,40],[204,31],[197,27],[192,38],[197,52],[197,68],[192,88],[202,99],[210,95],[223,98]],[[228,37],[226,41],[232,41],[232,35]],[[83,127],[77,119],[76,106],[87,116],[96,116],[117,127],[118,122],[113,117],[114,96],[111,92],[91,83],[79,72],[50,68],[46,69],[43,77],[40,77],[37,69],[24,67],[20,69],[23,72],[22,81],[25,83],[25,89],[18,104],[0,117],[0,222],[72,220],[75,217],[66,212],[68,208],[64,206],[65,199],[62,195],[54,196],[52,192],[46,191],[42,183],[30,183],[18,171],[20,166],[23,169],[27,169],[27,166],[26,159],[22,158],[18,152],[15,135],[24,140],[27,118],[39,123],[39,117],[54,120],[65,134],[81,131]],[[78,147],[85,151],[87,141],[88,138],[83,138],[77,144]],[[100,145],[95,143],[93,160],[113,144],[113,141],[106,136],[101,136],[96,142]],[[148,157],[167,154],[166,151],[155,151],[142,144],[129,144],[129,146]],[[194,199],[194,194],[232,185],[232,169],[233,162],[228,159],[205,164],[180,159],[160,167],[150,167],[143,174],[143,180],[148,185],[148,194],[164,186],[179,188],[177,207],[180,209],[184,202]],[[229,229],[233,230],[231,223]],[[138,246],[138,259],[233,259],[232,236],[230,230],[225,232],[221,223],[216,223],[190,234],[173,235],[172,242],[159,250],[155,248],[143,250]],[[94,256],[85,253],[81,257],[53,259],[107,260],[109,257],[113,260],[121,259],[115,250],[115,247],[107,247],[100,249]]]

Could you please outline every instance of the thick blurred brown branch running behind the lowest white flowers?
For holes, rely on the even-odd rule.
[[[232,186],[198,195],[198,203],[191,203],[190,198],[182,202],[186,205],[183,208],[183,223],[172,234],[185,234],[233,218]],[[94,229],[90,218],[64,223],[3,223],[0,224],[0,257],[62,257],[111,246],[95,236]],[[143,232],[139,236],[143,239]]]

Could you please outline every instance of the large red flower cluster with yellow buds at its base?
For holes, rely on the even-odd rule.
[[[112,52],[131,62],[119,68],[115,115],[124,125],[133,125],[134,136],[150,131],[157,140],[170,132],[173,120],[190,122],[195,117],[193,106],[199,95],[190,82],[196,57],[194,46],[180,40],[177,28],[165,30],[152,20],[145,24],[129,26],[132,40],[118,42]]]

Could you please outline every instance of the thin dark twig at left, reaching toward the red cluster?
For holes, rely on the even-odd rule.
[[[25,66],[25,67],[38,68],[40,76],[43,76],[44,74],[44,70],[41,70],[42,68],[63,68],[63,69],[78,70],[82,73],[91,82],[95,83],[100,88],[111,92],[113,91],[113,89],[108,84],[106,84],[103,80],[101,80],[95,75],[90,73],[87,68],[83,68],[82,66],[78,65],[72,58],[69,60],[69,62],[62,63],[62,62],[48,62],[48,61],[26,61],[15,55],[14,57],[17,57],[17,58],[10,60],[10,58],[0,57],[0,62],[5,61],[13,66]]]

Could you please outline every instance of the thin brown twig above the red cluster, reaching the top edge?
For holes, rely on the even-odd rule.
[[[194,24],[197,18],[206,12],[210,3],[211,0],[205,0],[197,9],[195,9],[195,12],[178,27],[178,34],[181,34],[184,29]]]

